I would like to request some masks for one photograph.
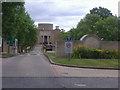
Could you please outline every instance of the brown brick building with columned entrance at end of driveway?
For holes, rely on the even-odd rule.
[[[53,44],[55,45],[57,40],[60,40],[59,26],[53,30],[53,24],[40,23],[38,24],[38,43],[39,44]]]

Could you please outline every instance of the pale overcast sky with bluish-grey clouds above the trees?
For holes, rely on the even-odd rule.
[[[109,9],[118,15],[119,0],[25,0],[25,8],[38,23],[52,23],[60,29],[70,30],[95,7]]]

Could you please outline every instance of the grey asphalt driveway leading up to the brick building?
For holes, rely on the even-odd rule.
[[[54,77],[47,58],[35,47],[34,51],[2,60],[3,77]]]

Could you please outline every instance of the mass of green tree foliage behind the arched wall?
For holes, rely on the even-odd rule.
[[[110,10],[106,8],[93,8],[90,14],[87,14],[81,19],[76,28],[70,29],[67,33],[72,37],[72,40],[79,40],[83,35],[95,34],[105,41],[120,41],[118,34],[120,19],[113,16]]]

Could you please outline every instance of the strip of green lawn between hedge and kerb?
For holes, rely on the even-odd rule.
[[[47,53],[49,56],[55,56],[54,53]],[[54,57],[52,60],[56,63],[77,65],[77,66],[95,66],[95,67],[113,67],[118,68],[118,59],[74,59],[71,58],[57,58]]]

